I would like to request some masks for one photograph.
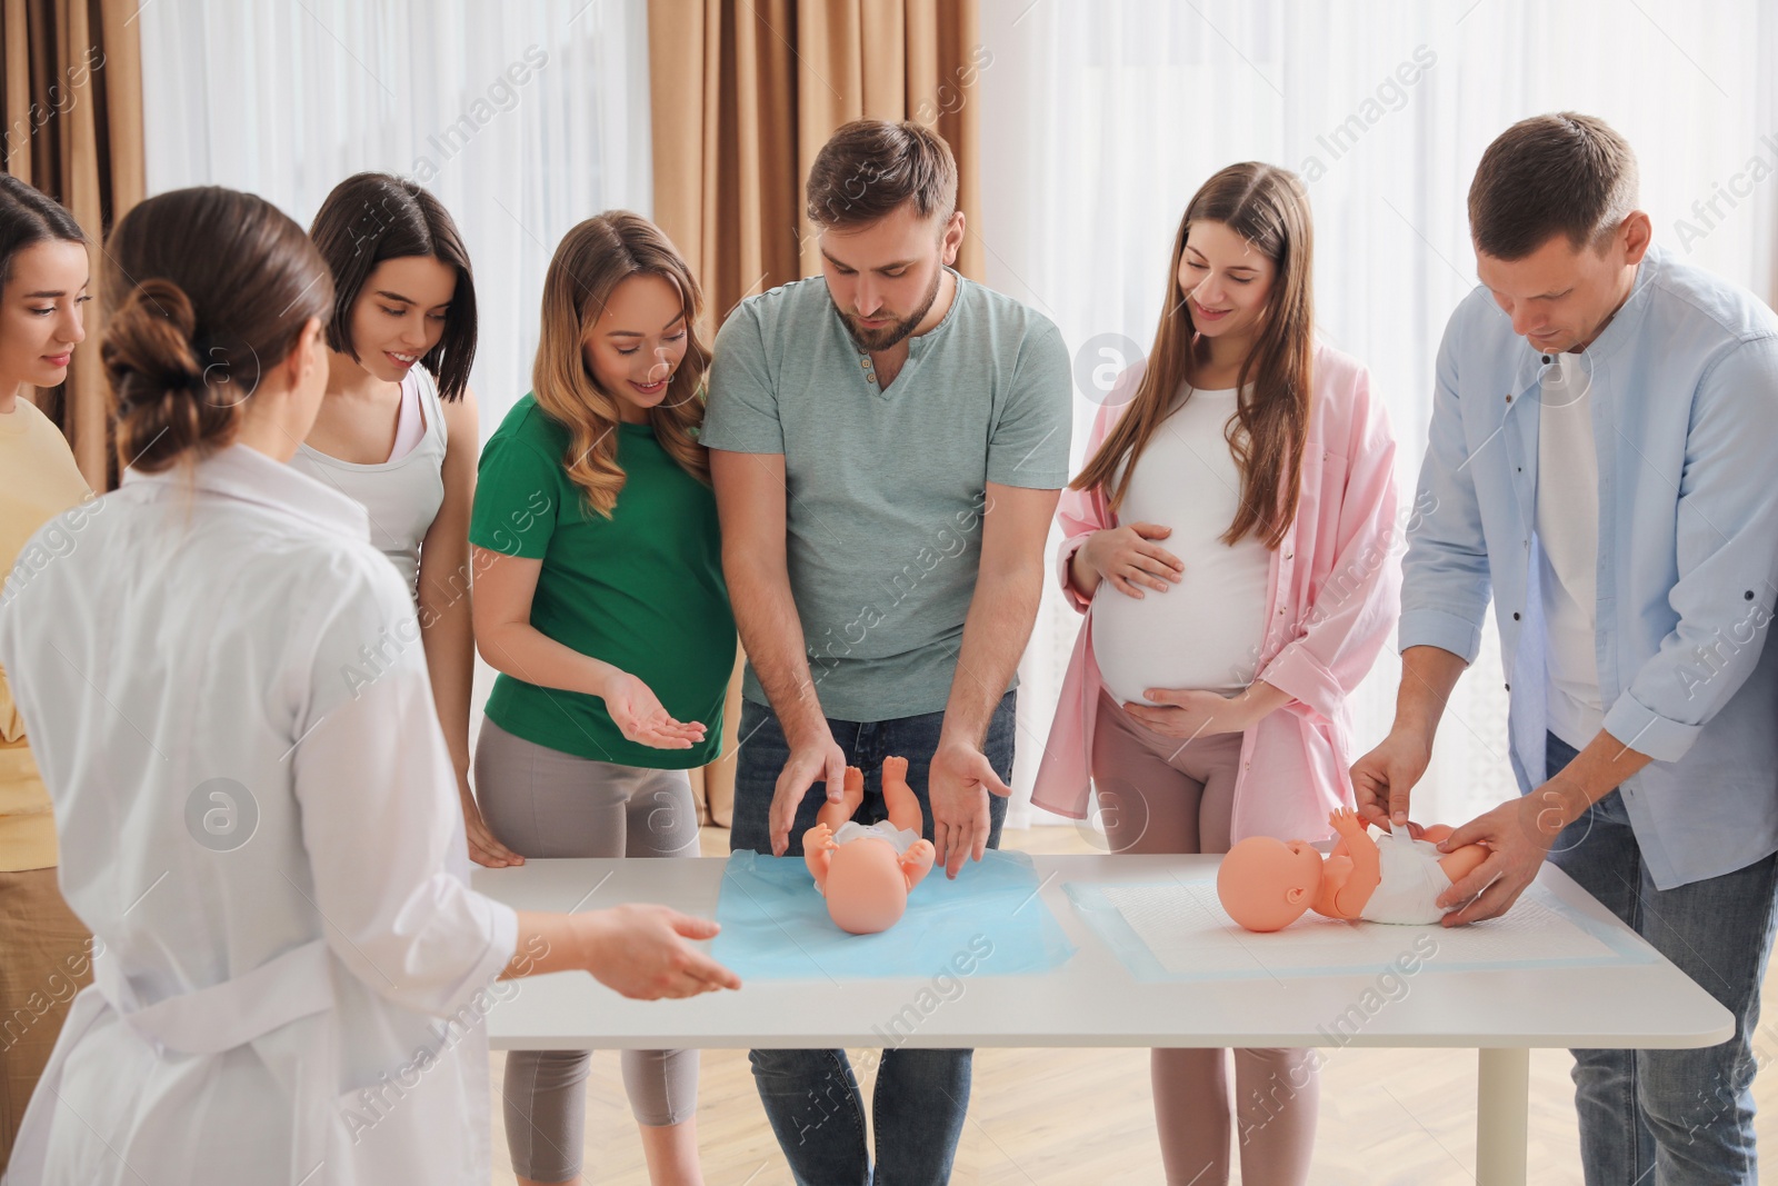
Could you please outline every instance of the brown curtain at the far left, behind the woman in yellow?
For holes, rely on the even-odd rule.
[[[5,171],[60,201],[94,244],[142,199],[140,0],[5,0],[0,98]],[[89,306],[91,309],[92,306]],[[116,484],[98,317],[68,382],[36,393],[96,491]]]

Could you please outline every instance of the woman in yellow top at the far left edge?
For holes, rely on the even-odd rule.
[[[91,491],[57,427],[25,398],[55,388],[85,338],[87,240],[53,199],[0,174],[0,603],[76,548]],[[60,526],[23,551],[37,528]],[[14,567],[16,564],[16,567]],[[92,980],[91,937],[55,885],[55,818],[0,670],[0,1172],[68,1003]]]

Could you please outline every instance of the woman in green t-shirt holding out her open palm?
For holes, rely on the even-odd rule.
[[[532,395],[482,450],[475,638],[500,670],[475,754],[482,814],[526,857],[695,857],[688,770],[722,749],[734,617],[709,462],[697,281],[612,212],[544,277]],[[507,1056],[519,1182],[578,1182],[587,1051]],[[656,1186],[702,1182],[697,1051],[626,1051]]]

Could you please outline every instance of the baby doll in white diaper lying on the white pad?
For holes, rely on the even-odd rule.
[[[1446,910],[1438,894],[1488,859],[1483,845],[1438,852],[1449,827],[1371,837],[1357,813],[1337,809],[1328,823],[1339,834],[1334,852],[1321,857],[1307,841],[1289,843],[1250,836],[1223,857],[1216,871],[1216,896],[1246,930],[1282,930],[1305,909],[1337,919],[1371,923],[1437,923]]]

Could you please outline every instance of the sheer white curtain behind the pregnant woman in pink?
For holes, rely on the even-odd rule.
[[[1236,160],[1309,181],[1319,333],[1371,366],[1412,496],[1433,356],[1476,284],[1465,194],[1524,116],[1611,121],[1641,162],[1657,242],[1771,299],[1778,12],[1760,0],[983,0],[989,283],[1047,313],[1101,375],[1145,350],[1193,190]],[[1127,341],[1122,341],[1122,340]],[[1097,405],[1077,384],[1076,462]],[[1054,542],[1054,541],[1053,541]],[[1079,619],[1045,592],[1022,665],[1028,795]],[[1513,793],[1497,637],[1465,674],[1419,795],[1462,821]],[[1357,697],[1358,743],[1389,725],[1399,660]],[[1029,807],[1013,820],[1049,818]],[[1037,821],[1037,820],[1031,820]]]

